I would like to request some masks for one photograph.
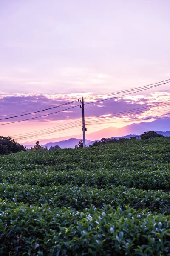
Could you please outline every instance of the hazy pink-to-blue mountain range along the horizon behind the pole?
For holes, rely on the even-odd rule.
[[[86,145],[93,144],[94,141],[100,140],[102,137],[106,138],[120,138],[135,136],[144,133],[145,131],[156,131],[158,134],[164,136],[170,136],[170,118],[157,119],[151,122],[141,122],[133,123],[121,128],[117,127],[108,127],[102,130],[86,134]],[[129,134],[129,135],[127,135]],[[79,143],[79,140],[82,139],[82,134],[74,136],[66,136],[52,139],[39,139],[39,143],[47,148],[50,148],[51,145],[59,145],[61,148],[74,148],[76,144]],[[37,140],[36,140],[37,141]],[[20,143],[27,148],[30,148],[35,144],[36,141]]]

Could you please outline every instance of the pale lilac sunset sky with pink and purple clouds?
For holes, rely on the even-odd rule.
[[[103,102],[97,95],[170,79],[169,24],[169,0],[0,0],[0,119],[82,96],[101,100],[85,106],[88,132],[122,127],[124,119],[164,116],[168,108],[120,118],[111,113],[170,100],[169,83]],[[37,116],[0,120],[0,134],[20,138],[15,135],[81,122],[76,107],[5,125]],[[103,118],[110,123],[90,125]],[[77,133],[78,125],[42,137]]]

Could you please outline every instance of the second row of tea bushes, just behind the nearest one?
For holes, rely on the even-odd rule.
[[[28,205],[48,203],[57,207],[73,207],[82,210],[85,207],[102,208],[106,204],[125,209],[128,205],[135,209],[148,208],[154,212],[170,214],[170,192],[142,189],[127,189],[126,187],[107,187],[98,189],[88,186],[62,185],[40,187],[30,185],[1,185],[1,200],[24,202]]]

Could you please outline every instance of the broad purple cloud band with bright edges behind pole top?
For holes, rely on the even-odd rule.
[[[104,96],[90,99],[92,95],[89,93],[44,95],[15,93],[0,95],[0,118],[8,118],[15,115],[24,116],[0,120],[0,122],[14,122],[34,117],[37,117],[37,119],[33,119],[34,121],[40,122],[81,119],[82,111],[79,108],[80,103],[78,100],[70,103],[69,105],[25,115],[30,112],[49,108],[50,106],[54,107],[61,105],[62,103],[81,99],[81,96],[84,96],[85,98],[85,118],[87,122],[90,120],[106,119],[135,120],[148,117],[152,118],[154,116],[164,116],[167,111],[170,110],[170,107],[167,109],[168,104],[170,105],[170,93],[168,92],[156,92],[150,93],[149,95],[123,96],[109,100],[104,100],[106,98]],[[99,102],[95,103],[96,100],[99,100]],[[164,108],[165,104],[167,104],[166,108]],[[77,107],[72,108],[74,106]]]

